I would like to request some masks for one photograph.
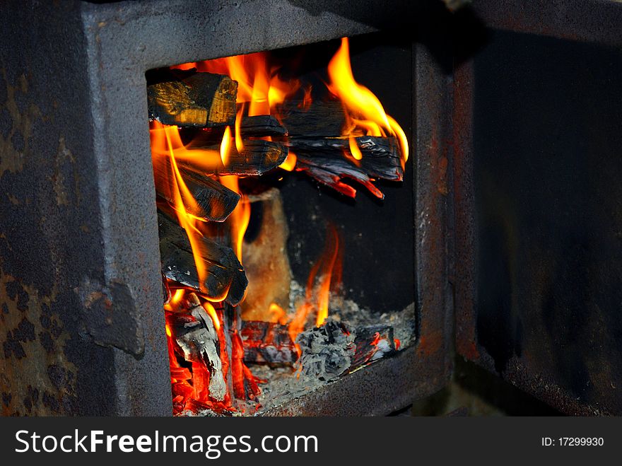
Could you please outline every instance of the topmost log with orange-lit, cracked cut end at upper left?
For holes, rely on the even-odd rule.
[[[223,74],[158,69],[147,74],[149,117],[180,127],[233,125],[237,82]]]

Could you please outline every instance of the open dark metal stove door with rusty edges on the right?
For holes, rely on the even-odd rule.
[[[455,72],[457,350],[568,414],[621,414],[622,4],[546,3],[475,1],[564,40],[491,32]]]

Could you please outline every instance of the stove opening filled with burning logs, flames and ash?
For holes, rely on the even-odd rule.
[[[269,414],[416,341],[411,69],[368,35],[148,71],[174,414]]]

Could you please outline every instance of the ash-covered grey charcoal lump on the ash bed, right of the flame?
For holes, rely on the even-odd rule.
[[[332,380],[348,371],[355,354],[355,334],[346,324],[327,319],[324,325],[298,334],[302,351],[297,364],[306,377]]]

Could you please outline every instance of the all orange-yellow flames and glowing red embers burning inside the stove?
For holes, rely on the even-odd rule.
[[[202,284],[206,281],[207,269],[204,255],[201,254],[203,243],[201,239],[208,235],[210,226],[205,219],[198,216],[197,212],[201,209],[185,184],[182,173],[189,165],[192,165],[193,170],[209,174],[213,180],[218,180],[225,187],[240,194],[240,201],[219,231],[222,232],[223,228],[227,230],[224,236],[230,238],[230,247],[242,264],[244,236],[250,222],[251,204],[247,195],[240,189],[240,177],[217,175],[217,173],[228,166],[232,151],[234,151],[233,154],[235,151],[238,154],[243,153],[245,144],[242,140],[242,120],[245,117],[272,115],[281,120],[283,103],[300,93],[303,94],[303,98],[298,106],[302,110],[308,110],[312,105],[312,89],[310,86],[302,87],[300,81],[295,79],[283,80],[279,76],[279,67],[271,64],[266,52],[194,62],[176,67],[196,68],[197,71],[225,74],[238,83],[235,124],[225,127],[219,147],[191,148],[190,144],[183,143],[178,127],[165,126],[155,121],[151,122],[150,127],[155,185],[158,192],[170,194],[167,197],[170,203],[167,211],[170,210],[173,215],[177,216],[178,223],[187,233],[199,275],[199,283]],[[402,163],[405,163],[408,158],[408,144],[404,131],[392,117],[387,115],[380,100],[368,88],[355,81],[350,64],[348,39],[345,37],[341,40],[341,47],[329,63],[328,74],[327,88],[330,93],[341,100],[346,115],[346,124],[341,129],[341,137],[348,138],[349,153],[348,148],[344,149],[344,155],[348,161],[360,166],[363,153],[357,144],[356,137],[367,135],[397,138],[401,148]],[[271,138],[268,136],[264,139]],[[300,156],[302,155],[300,153]],[[296,170],[297,163],[298,157],[290,151],[280,168],[293,171]],[[265,320],[286,325],[292,341],[295,341],[298,334],[310,325],[323,325],[329,316],[331,296],[335,296],[341,286],[343,249],[343,242],[338,231],[334,226],[329,226],[324,250],[313,264],[307,278],[303,302],[295,310],[290,310],[290,313],[276,303],[272,303],[266,310]],[[167,283],[167,287],[172,291],[172,296],[170,296],[170,301],[164,305],[165,332],[176,412],[183,409],[209,408],[223,413],[244,409],[244,402],[254,400],[259,393],[258,380],[254,378],[243,361],[244,347],[239,334],[240,314],[236,309],[228,308],[227,304],[221,303],[225,300],[228,291],[225,291],[222,296],[209,296],[207,290],[201,288],[201,292],[197,292],[180,288],[180,284],[172,281]],[[196,306],[200,306],[199,310],[204,310],[204,314],[201,315],[209,316],[213,329],[206,323],[205,318],[201,318],[205,326],[211,329],[209,331],[212,334],[215,330],[218,335],[216,351],[220,352],[222,371],[216,374],[219,377],[222,376],[227,385],[227,392],[222,399],[215,400],[210,396],[210,378],[215,373],[213,366],[208,366],[200,360],[193,359],[190,362],[178,356],[180,346],[175,337],[175,329],[179,328],[180,323],[177,321],[177,327],[175,327],[174,322],[177,318],[175,316],[182,315],[183,318],[192,319],[189,317],[189,311],[196,313]],[[196,318],[196,320],[199,319]],[[196,324],[196,322],[190,323]],[[399,346],[399,341],[396,340],[395,344]],[[214,350],[211,351],[213,353]],[[300,355],[300,348],[298,348],[298,354]],[[211,382],[215,380],[219,379],[212,379]],[[238,403],[236,400],[243,402]]]

